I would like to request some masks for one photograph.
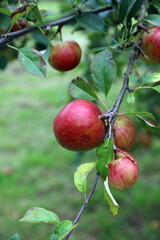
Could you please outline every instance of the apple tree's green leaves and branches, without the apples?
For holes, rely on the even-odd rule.
[[[88,99],[102,104],[106,108],[104,118],[108,121],[105,141],[96,149],[95,161],[80,165],[74,174],[74,183],[78,191],[86,195],[86,180],[88,174],[96,168],[97,176],[93,188],[86,198],[77,218],[74,222],[70,220],[60,221],[59,217],[49,210],[34,207],[29,209],[26,215],[20,220],[30,223],[50,223],[55,225],[55,230],[50,240],[68,239],[72,230],[77,226],[79,217],[88,204],[99,176],[104,181],[104,199],[110,206],[110,211],[115,216],[118,214],[118,203],[112,196],[108,186],[109,169],[106,164],[113,159],[114,141],[112,138],[113,125],[118,114],[118,110],[123,97],[127,94],[127,102],[134,104],[136,92],[148,89],[160,93],[160,72],[154,66],[148,66],[145,73],[138,73],[132,68],[142,53],[140,43],[141,37],[147,28],[160,26],[160,3],[152,0],[66,0],[70,7],[70,12],[64,12],[62,17],[55,19],[54,16],[47,13],[45,9],[39,9],[36,0],[23,1],[1,1],[0,21],[4,25],[0,26],[0,69],[7,66],[7,61],[17,57],[20,66],[27,73],[38,77],[46,77],[47,64],[51,52],[51,40],[56,35],[61,34],[61,29],[66,24],[72,24],[74,30],[81,30],[91,33],[95,38],[102,36],[102,44],[95,46],[92,39],[92,46],[88,52],[93,56],[89,68],[89,74],[86,76],[77,76],[69,86],[68,92],[75,99]],[[12,7],[10,7],[12,6]],[[14,6],[14,8],[13,8]],[[22,19],[30,23],[29,27],[16,32],[11,32],[12,26],[17,20]],[[8,26],[5,23],[8,22]],[[58,26],[58,30],[55,27]],[[112,27],[112,33],[108,33],[109,26]],[[57,29],[57,28],[56,28]],[[25,47],[24,41],[17,46],[14,39],[20,36],[32,34],[34,38],[35,30],[40,33],[41,44]],[[35,38],[37,39],[37,38]],[[104,40],[105,39],[105,40]],[[95,41],[96,42],[96,41]],[[43,43],[43,44],[42,44]],[[12,51],[10,54],[8,50]],[[124,80],[119,96],[111,109],[99,98],[99,93],[106,98],[110,92],[111,86],[117,72],[121,71],[121,64],[117,64],[116,56],[123,55],[125,50],[130,51],[128,66],[124,72]],[[145,64],[145,63],[144,63]],[[142,127],[152,133],[160,134],[160,127],[154,126],[150,120],[156,120],[150,112],[143,112],[138,109],[137,112],[127,112],[126,114],[135,115],[140,121]],[[15,234],[10,240],[19,240],[18,234]]]

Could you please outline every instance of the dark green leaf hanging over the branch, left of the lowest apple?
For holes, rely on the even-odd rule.
[[[107,164],[113,159],[113,139],[107,138],[99,147],[96,149],[97,172],[102,176],[103,179],[106,179],[109,173],[109,168]]]

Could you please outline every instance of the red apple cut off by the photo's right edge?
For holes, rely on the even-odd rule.
[[[160,64],[160,27],[152,27],[145,32],[141,39],[141,49],[145,56],[142,56],[146,63]]]

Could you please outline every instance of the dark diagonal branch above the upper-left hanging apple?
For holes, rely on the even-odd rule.
[[[106,7],[102,7],[102,8],[93,9],[93,10],[81,11],[79,13],[74,13],[74,14],[68,16],[68,17],[64,17],[64,18],[61,18],[59,20],[52,21],[52,22],[49,22],[47,24],[44,24],[43,27],[46,29],[48,27],[63,26],[65,24],[67,24],[68,22],[73,21],[80,14],[84,14],[84,13],[97,14],[97,13],[104,12],[104,11],[111,10],[111,9],[112,9],[111,6],[106,6]],[[20,36],[23,36],[23,35],[29,33],[29,32],[36,31],[36,30],[39,30],[39,28],[37,26],[31,26],[31,27],[26,27],[26,28],[24,28],[22,30],[19,30],[19,31],[16,31],[16,32],[10,32],[10,33],[7,34],[7,37],[6,37],[6,34],[3,34],[3,35],[1,35],[0,45],[9,43],[10,41],[12,41],[15,38],[18,38]]]

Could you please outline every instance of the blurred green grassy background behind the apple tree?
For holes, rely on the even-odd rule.
[[[52,1],[53,12],[58,14],[65,7],[63,2]],[[39,4],[42,9],[51,9],[51,2]],[[22,240],[47,240],[54,226],[19,222],[26,211],[38,206],[54,211],[61,220],[74,220],[84,202],[84,196],[74,186],[73,175],[81,163],[95,161],[95,150],[75,153],[63,149],[54,137],[52,124],[60,109],[71,100],[68,83],[76,76],[87,76],[92,58],[87,54],[88,47],[101,42],[97,34],[87,36],[81,31],[72,34],[72,30],[71,26],[64,27],[63,38],[75,39],[82,47],[83,57],[71,72],[59,73],[48,64],[47,78],[41,79],[23,72],[17,60],[0,72],[0,239],[18,233]],[[32,40],[29,43],[32,46]],[[108,96],[109,107],[121,88],[128,56],[128,51],[122,55],[114,53],[118,74]],[[146,67],[137,61],[137,68],[143,72]],[[124,99],[121,110],[151,111],[159,120],[158,94],[143,91],[136,99],[134,105]],[[113,217],[99,181],[71,239],[160,239],[160,139],[146,134],[138,120],[133,119],[137,140],[130,153],[139,163],[137,183],[125,191],[112,191],[120,205],[118,216]],[[88,192],[95,173],[88,176]]]

